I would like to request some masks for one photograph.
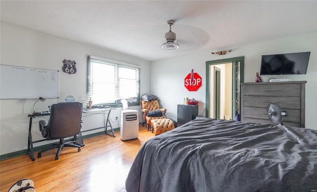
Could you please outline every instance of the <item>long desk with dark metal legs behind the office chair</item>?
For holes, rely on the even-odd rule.
[[[103,126],[103,127],[98,127],[98,128],[94,128],[94,129],[89,129],[89,130],[85,130],[85,131],[81,131],[79,134],[78,134],[78,139],[79,139],[79,142],[77,142],[77,136],[74,136],[74,141],[81,145],[81,146],[85,146],[84,144],[84,141],[82,139],[82,135],[81,133],[83,132],[88,132],[88,131],[93,131],[93,130],[97,130],[97,129],[102,129],[102,128],[106,128],[105,129],[105,134],[106,135],[109,135],[111,137],[115,137],[114,135],[114,131],[112,129],[112,126],[111,126],[111,123],[109,121],[109,115],[110,115],[110,112],[111,112],[111,109],[115,109],[115,108],[112,108],[112,107],[109,107],[109,108],[101,108],[101,109],[83,109],[83,113],[86,113],[86,114],[106,114],[106,126]],[[35,160],[34,158],[34,150],[33,150],[33,144],[35,143],[39,143],[39,142],[44,142],[44,141],[47,141],[45,139],[43,140],[39,140],[39,141],[33,141],[32,140],[32,121],[33,121],[33,118],[36,118],[36,117],[44,117],[44,116],[50,116],[51,113],[40,113],[40,114],[28,114],[28,117],[30,118],[30,122],[29,122],[29,134],[28,134],[28,155],[30,156],[30,158],[32,159],[32,161]],[[88,116],[88,115],[87,115]],[[85,116],[82,116],[82,117],[85,117]],[[107,128],[110,127],[110,132],[111,134],[108,134],[107,133]]]

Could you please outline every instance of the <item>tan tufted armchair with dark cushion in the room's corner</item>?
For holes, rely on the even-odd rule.
[[[165,118],[165,108],[159,108],[159,98],[154,95],[146,94],[141,96],[141,107],[142,107],[142,116],[143,124],[147,123],[147,129],[151,128],[152,119],[163,119]],[[157,111],[159,110],[159,111]],[[150,115],[149,115],[150,112]]]

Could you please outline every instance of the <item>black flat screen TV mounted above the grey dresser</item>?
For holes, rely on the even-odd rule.
[[[311,52],[262,55],[260,75],[306,74]]]

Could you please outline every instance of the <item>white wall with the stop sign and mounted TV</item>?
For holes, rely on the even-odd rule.
[[[181,45],[180,45],[180,48]],[[231,49],[231,48],[227,48]],[[177,51],[177,50],[170,50]],[[220,50],[219,50],[220,51]],[[167,109],[166,116],[177,119],[177,104],[185,96],[194,97],[202,114],[206,104],[206,61],[237,56],[245,56],[244,81],[254,82],[256,72],[260,71],[261,56],[289,52],[311,51],[306,75],[263,76],[264,81],[289,78],[291,81],[307,81],[306,84],[306,127],[317,129],[317,34],[303,34],[282,39],[243,45],[232,48],[225,55],[211,54],[211,50],[191,55],[179,56],[152,62],[151,91],[159,96],[161,105]],[[184,78],[194,69],[203,79],[203,87],[197,92],[189,92],[184,87]],[[204,114],[205,115],[205,114]]]

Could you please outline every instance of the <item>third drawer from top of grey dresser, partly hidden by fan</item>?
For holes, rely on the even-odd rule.
[[[287,109],[288,116],[283,116],[283,121],[300,123],[301,111],[296,109]],[[244,107],[244,118],[268,119],[266,107]]]

